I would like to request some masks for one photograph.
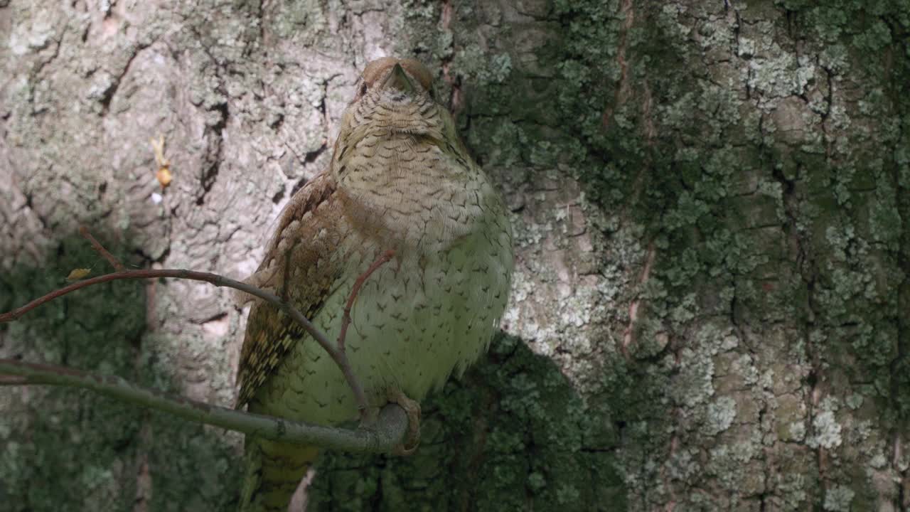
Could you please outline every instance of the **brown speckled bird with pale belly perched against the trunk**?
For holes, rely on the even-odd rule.
[[[288,201],[248,283],[339,335],[354,283],[346,353],[371,407],[419,403],[463,374],[499,328],[514,266],[509,211],[434,97],[419,60],[363,68],[328,166]],[[316,425],[359,416],[338,366],[291,318],[254,302],[237,407]],[[401,403],[399,401],[399,403]],[[288,510],[318,446],[247,435],[240,510]]]

